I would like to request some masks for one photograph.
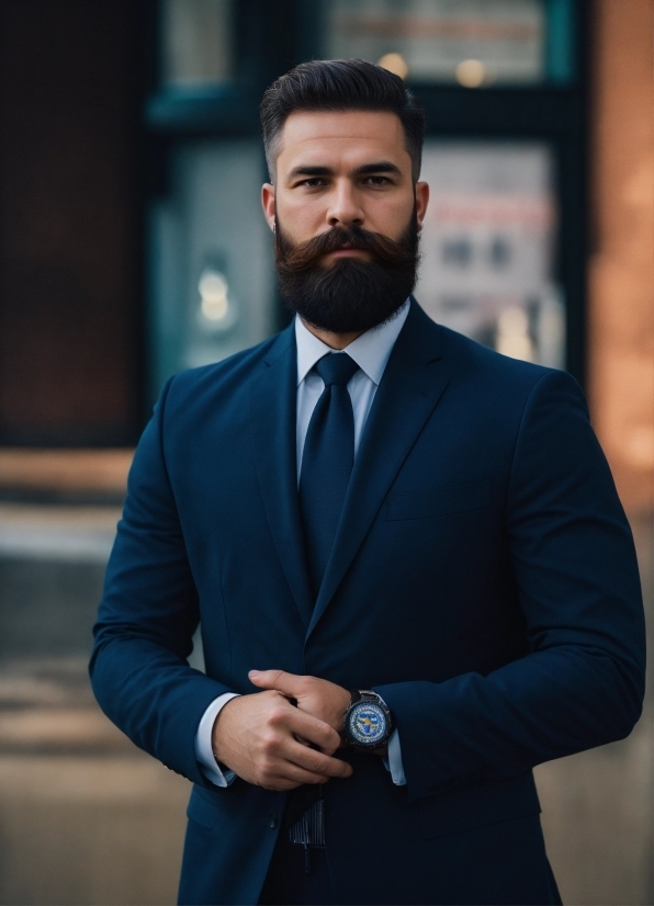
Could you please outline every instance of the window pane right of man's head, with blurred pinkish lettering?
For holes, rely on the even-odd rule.
[[[427,313],[506,355],[563,367],[550,148],[428,140],[421,179],[431,195],[416,295]]]

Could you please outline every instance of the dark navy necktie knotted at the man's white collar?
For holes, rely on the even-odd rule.
[[[347,385],[359,365],[347,352],[332,352],[314,369],[325,382],[325,389],[304,442],[300,509],[309,576],[317,596],[354,463],[354,415]]]

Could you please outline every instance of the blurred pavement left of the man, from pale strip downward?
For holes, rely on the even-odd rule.
[[[177,898],[189,783],[101,713],[87,673],[120,510],[0,505],[0,903]]]

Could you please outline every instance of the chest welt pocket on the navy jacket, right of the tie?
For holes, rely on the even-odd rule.
[[[481,510],[490,506],[493,485],[490,478],[466,485],[442,485],[424,490],[390,494],[386,498],[386,519],[430,519],[456,512]]]

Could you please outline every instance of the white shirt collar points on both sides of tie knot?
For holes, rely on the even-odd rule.
[[[357,362],[361,371],[374,384],[379,384],[382,380],[408,310],[409,301],[407,299],[394,318],[367,330],[342,350]],[[295,340],[297,343],[297,386],[300,386],[316,362],[334,350],[312,333],[297,315],[295,316]]]

